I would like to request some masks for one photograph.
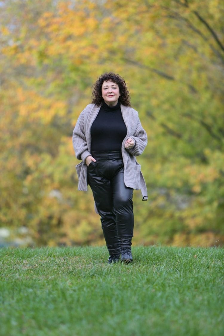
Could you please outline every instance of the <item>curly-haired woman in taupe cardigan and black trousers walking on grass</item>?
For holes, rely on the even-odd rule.
[[[80,114],[73,131],[78,190],[89,184],[109,252],[108,263],[132,262],[133,189],[147,190],[136,156],[147,144],[138,112],[131,108],[123,78],[111,72],[93,86],[92,103]]]

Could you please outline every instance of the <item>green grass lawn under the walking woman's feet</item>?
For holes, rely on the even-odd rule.
[[[0,335],[223,335],[224,249],[0,249]]]

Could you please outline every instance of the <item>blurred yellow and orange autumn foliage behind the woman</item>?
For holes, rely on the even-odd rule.
[[[0,1],[0,225],[37,245],[101,244],[77,192],[76,120],[105,71],[148,133],[135,244],[224,242],[224,4],[219,0]]]

